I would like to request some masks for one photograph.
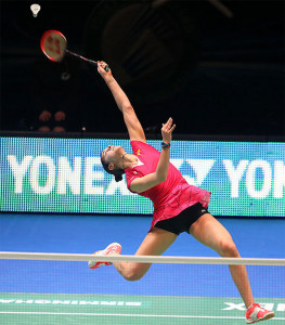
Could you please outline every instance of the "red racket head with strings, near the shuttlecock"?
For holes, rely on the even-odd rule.
[[[67,40],[59,30],[47,30],[40,40],[41,51],[54,62],[61,62],[64,57]]]

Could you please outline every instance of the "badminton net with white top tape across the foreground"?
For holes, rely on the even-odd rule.
[[[114,265],[152,263],[135,282]],[[0,324],[245,324],[228,264],[246,265],[256,302],[285,323],[285,259],[0,252]]]

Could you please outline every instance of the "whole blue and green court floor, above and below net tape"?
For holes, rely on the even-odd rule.
[[[219,220],[242,257],[285,258],[285,219]],[[124,255],[133,255],[150,225],[151,217],[2,213],[0,250],[92,253],[118,242]],[[187,234],[165,255],[217,257]],[[153,264],[139,282],[114,266],[89,270],[87,262],[0,260],[0,270],[1,324],[245,323],[228,265]],[[272,324],[284,324],[285,268],[247,271],[257,301],[276,314]]]

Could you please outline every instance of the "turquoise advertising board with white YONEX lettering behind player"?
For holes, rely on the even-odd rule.
[[[1,136],[0,210],[151,214],[151,200],[103,170],[108,144],[131,153],[122,139]],[[212,214],[285,217],[284,142],[173,140],[170,157],[190,184],[211,192]]]

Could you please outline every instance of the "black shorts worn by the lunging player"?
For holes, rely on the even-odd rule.
[[[189,233],[191,225],[205,213],[209,213],[209,211],[200,203],[197,203],[173,218],[158,221],[155,226],[176,235],[183,232]]]

